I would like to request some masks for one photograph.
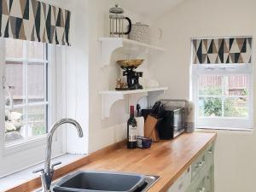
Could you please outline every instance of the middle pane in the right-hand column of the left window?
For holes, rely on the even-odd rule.
[[[44,102],[44,63],[28,63],[27,96],[28,102]]]

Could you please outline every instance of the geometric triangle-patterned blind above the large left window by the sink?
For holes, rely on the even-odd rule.
[[[37,0],[0,0],[1,37],[70,45],[70,11]]]

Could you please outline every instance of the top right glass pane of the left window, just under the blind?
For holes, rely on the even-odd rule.
[[[27,54],[29,59],[44,60],[44,44],[38,42],[28,42]]]

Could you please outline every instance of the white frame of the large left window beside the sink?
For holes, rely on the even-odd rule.
[[[62,83],[62,79],[66,78],[66,61],[63,61],[65,58],[63,55],[66,53],[60,54],[61,58],[56,58],[56,53],[59,52],[55,45],[47,45],[49,49],[48,61],[49,61],[49,120],[48,120],[48,130],[50,125],[52,125],[59,116],[66,114],[66,101],[62,101],[61,108],[64,109],[63,114],[57,114],[57,108],[59,100],[63,99],[62,95],[65,94],[66,87],[64,92],[58,93],[60,86],[66,86]],[[5,146],[4,142],[4,90],[3,87],[3,76],[4,76],[4,39],[0,38],[0,124],[3,129],[0,129],[0,177],[8,175],[12,172],[20,171],[26,167],[33,166],[42,162],[44,160],[44,151],[46,146],[46,137],[44,134],[40,137],[32,137],[20,143],[14,143],[12,145]],[[65,49],[66,50],[66,49]],[[58,53],[59,54],[59,53]],[[57,56],[56,56],[57,55]],[[13,61],[13,60],[12,60]],[[19,60],[20,61],[20,60]],[[65,65],[63,67],[58,67],[56,65],[58,62],[62,61]],[[58,63],[61,65],[62,63]],[[66,81],[64,81],[66,82]],[[64,98],[65,99],[65,98]],[[65,154],[65,147],[63,147],[63,139],[66,137],[66,131],[56,131],[55,139],[53,140],[52,147],[52,156],[58,156]],[[20,162],[19,164],[17,163]],[[11,167],[10,165],[15,165]]]

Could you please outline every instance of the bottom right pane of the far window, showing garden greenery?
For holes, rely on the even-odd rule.
[[[248,101],[246,97],[227,98],[224,100],[225,117],[248,117]]]

